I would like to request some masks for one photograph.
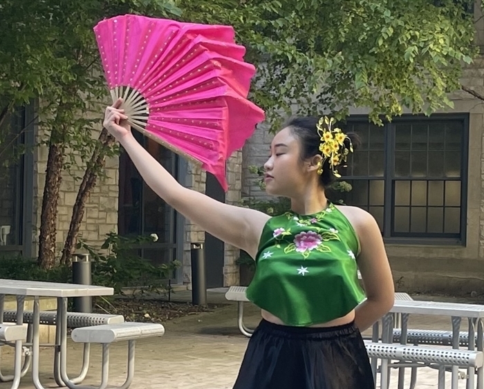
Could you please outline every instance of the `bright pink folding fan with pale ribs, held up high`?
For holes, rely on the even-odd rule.
[[[255,68],[233,28],[124,15],[94,32],[129,124],[200,164],[226,191],[225,161],[264,119],[247,99]]]

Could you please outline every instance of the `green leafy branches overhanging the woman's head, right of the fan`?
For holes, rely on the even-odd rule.
[[[472,0],[177,0],[184,20],[234,26],[257,65],[254,99],[274,120],[366,106],[371,120],[404,107],[451,106],[477,54]],[[278,120],[274,121],[277,128]]]

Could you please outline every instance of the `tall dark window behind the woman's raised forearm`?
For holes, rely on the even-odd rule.
[[[138,142],[176,177],[178,157],[165,147],[133,131]],[[138,247],[142,258],[154,265],[176,258],[176,211],[156,195],[134,167],[126,153],[120,156],[118,231],[122,236],[157,234],[158,241]]]

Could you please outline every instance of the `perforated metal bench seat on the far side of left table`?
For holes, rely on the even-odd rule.
[[[33,312],[24,312],[24,323],[32,324]],[[3,321],[15,323],[17,321],[17,311],[3,312]],[[55,325],[57,323],[56,311],[41,311],[40,323],[44,325]],[[89,327],[91,325],[117,324],[124,323],[124,316],[119,314],[92,314],[67,312],[67,328]]]

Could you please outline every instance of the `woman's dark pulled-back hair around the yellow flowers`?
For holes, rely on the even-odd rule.
[[[301,141],[301,160],[308,160],[318,154],[322,155],[321,151],[319,151],[321,137],[317,133],[318,122],[319,118],[313,116],[291,117],[284,126],[289,127],[292,134],[296,135]],[[356,133],[346,133],[346,135],[351,140],[353,149],[357,149],[357,146],[361,143],[360,137]],[[349,143],[348,139],[346,139],[345,146],[349,147]],[[326,160],[323,164],[323,173],[319,178],[319,182],[323,187],[327,187],[333,180],[335,180],[335,175],[331,171],[329,161]]]

